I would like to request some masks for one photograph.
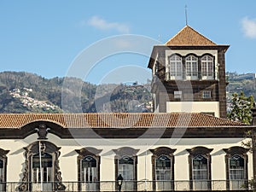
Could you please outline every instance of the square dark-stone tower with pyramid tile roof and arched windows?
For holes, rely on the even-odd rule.
[[[153,74],[154,111],[226,118],[224,54],[228,48],[188,25],[166,44],[154,45],[148,62]]]

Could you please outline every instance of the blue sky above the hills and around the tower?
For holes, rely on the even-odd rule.
[[[185,5],[189,26],[216,44],[230,44],[226,53],[227,71],[256,73],[255,0],[3,0],[0,1],[0,72],[26,71],[45,78],[65,77],[78,55],[92,44],[124,34],[164,44],[185,26]],[[110,72],[118,72],[120,76],[131,73],[139,82],[143,81],[135,70],[124,68],[119,73],[116,69],[122,66],[142,67],[148,73],[143,78],[150,78],[148,56],[134,53],[106,56],[90,68],[90,73],[80,73],[86,73],[84,80],[95,84],[104,82]]]

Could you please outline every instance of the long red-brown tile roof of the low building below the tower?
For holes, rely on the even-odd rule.
[[[39,120],[64,128],[244,126],[203,113],[0,113],[0,128],[17,129]]]

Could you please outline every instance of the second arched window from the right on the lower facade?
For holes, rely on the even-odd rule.
[[[211,189],[211,155],[212,148],[195,147],[189,152],[190,189]]]

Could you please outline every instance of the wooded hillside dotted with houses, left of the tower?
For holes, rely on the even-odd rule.
[[[62,90],[64,80],[73,86],[83,84],[81,97]],[[45,79],[26,72],[0,73],[0,113],[61,113],[61,91],[80,101],[68,103],[65,112],[143,112],[150,111],[151,95],[143,85],[90,84],[75,78]],[[74,107],[75,106],[75,107]]]

